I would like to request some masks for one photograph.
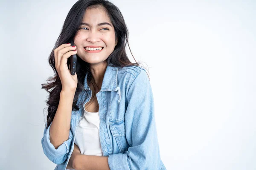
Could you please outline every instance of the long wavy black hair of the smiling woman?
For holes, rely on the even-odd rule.
[[[129,46],[129,43],[128,43],[129,33],[128,33],[128,28],[125,24],[125,20],[119,8],[117,8],[115,5],[113,5],[113,3],[109,2],[108,0],[77,1],[72,6],[69,13],[67,14],[61,33],[58,37],[58,40],[55,42],[55,46],[52,49],[51,54],[49,55],[49,65],[52,67],[55,75],[52,77],[49,77],[46,84],[41,84],[42,88],[46,89],[46,91],[49,93],[49,98],[46,101],[48,106],[47,107],[48,108],[47,109],[48,111],[47,125],[46,125],[47,128],[53,121],[53,118],[57,111],[59,100],[60,100],[60,93],[62,89],[61,80],[55,68],[54,49],[60,46],[61,44],[69,43],[73,39],[73,37],[75,37],[75,35],[79,30],[79,26],[83,21],[83,16],[86,9],[93,9],[93,8],[102,8],[107,12],[108,17],[110,18],[111,23],[114,26],[115,36],[118,39],[118,42],[114,48],[114,51],[106,59],[106,62],[108,63],[108,65],[111,65],[113,67],[139,65],[139,63],[135,60],[132,53],[131,55],[135,60],[134,63],[128,59],[128,56],[126,54],[125,46],[126,44],[128,44]],[[129,46],[129,49],[131,51],[130,46]],[[69,62],[70,62],[70,57],[68,58],[67,63]],[[94,92],[96,92],[96,89],[99,89],[90,71],[90,64],[87,62],[84,62],[80,57],[77,57],[76,74],[78,78],[78,84],[77,84],[76,93],[73,100],[72,111],[79,110],[80,105],[77,105],[77,101],[78,101],[79,94],[84,89],[84,78],[86,74],[87,74],[87,82],[88,84],[93,85]],[[92,98],[95,96],[95,94],[96,93],[94,93]]]

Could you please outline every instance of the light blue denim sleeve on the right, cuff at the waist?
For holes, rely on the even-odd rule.
[[[108,157],[111,170],[157,170],[160,151],[154,118],[154,99],[148,75],[141,70],[129,85],[125,135],[130,147]]]

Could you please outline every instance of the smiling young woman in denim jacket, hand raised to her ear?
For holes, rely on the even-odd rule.
[[[49,107],[41,143],[55,170],[166,170],[148,75],[128,59],[126,43],[123,16],[108,0],[70,9],[49,56],[55,77],[42,84]]]

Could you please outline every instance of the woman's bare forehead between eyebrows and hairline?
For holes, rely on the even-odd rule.
[[[110,22],[110,18],[103,8],[92,8],[86,9],[84,12],[83,22],[92,24],[99,22]]]

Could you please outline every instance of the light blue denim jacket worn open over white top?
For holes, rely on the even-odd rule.
[[[84,91],[92,91],[84,79]],[[103,156],[108,156],[111,170],[166,170],[161,158],[154,117],[154,99],[148,75],[140,66],[115,68],[107,66],[102,87],[96,94],[99,103],[99,138]],[[41,140],[44,154],[55,164],[55,170],[66,170],[74,150],[76,127],[83,108],[72,111],[70,133],[57,149],[50,143],[49,128]]]

